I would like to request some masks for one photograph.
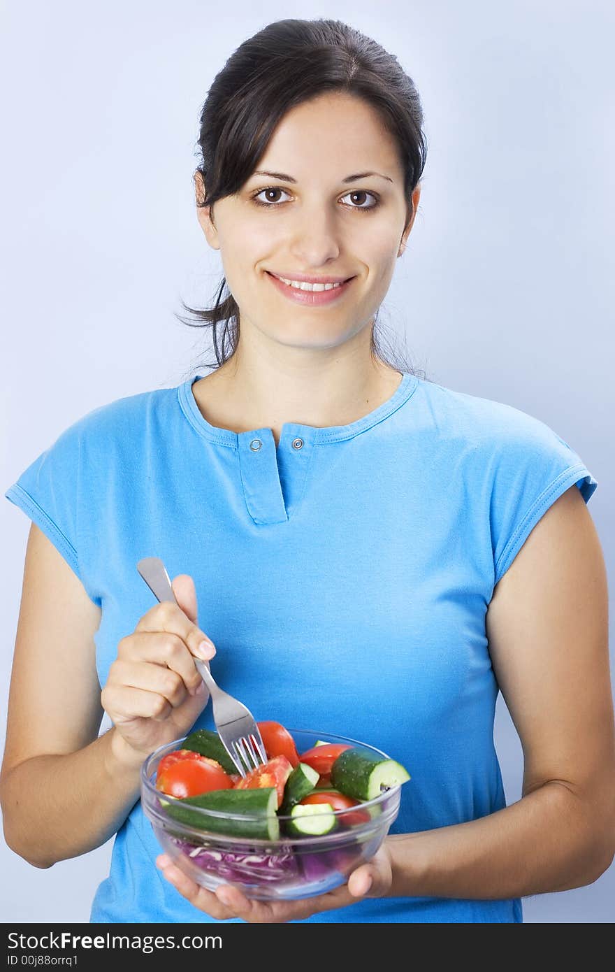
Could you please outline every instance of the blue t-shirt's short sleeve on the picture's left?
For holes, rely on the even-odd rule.
[[[79,563],[80,423],[41,453],[4,494],[51,540],[82,580]]]

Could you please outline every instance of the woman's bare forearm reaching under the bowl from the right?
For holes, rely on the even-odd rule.
[[[551,781],[495,814],[390,836],[391,894],[486,900],[589,885],[609,864],[603,829]]]

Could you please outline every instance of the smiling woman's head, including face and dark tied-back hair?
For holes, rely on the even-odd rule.
[[[265,63],[266,70],[256,68]],[[216,365],[235,354],[255,301],[263,320],[272,307],[278,317],[288,313],[275,292],[253,291],[248,305],[242,299],[251,280],[264,284],[275,274],[314,285],[290,293],[277,285],[294,306],[341,315],[333,334],[330,319],[305,319],[306,328],[325,329],[329,344],[342,340],[350,317],[357,327],[359,313],[369,325],[361,340],[368,339],[375,364],[422,373],[398,351],[385,353],[377,325],[417,212],[427,159],[422,126],[419,93],[396,57],[339,20],[277,21],[234,52],[203,106],[194,176],[199,222],[222,249],[225,277],[212,308],[184,304],[192,318],[178,315],[188,326],[212,329]],[[241,262],[218,238],[214,218],[222,232],[241,221],[250,248],[236,255]],[[302,226],[310,226],[309,252],[308,241],[297,250],[289,235]],[[353,286],[340,293],[321,291],[349,278]],[[287,340],[295,338],[290,331]]]

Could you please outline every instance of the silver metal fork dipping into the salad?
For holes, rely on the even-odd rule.
[[[144,557],[138,562],[137,571],[158,601],[172,601],[177,604],[169,575],[159,557]],[[214,722],[222,745],[236,766],[237,772],[245,777],[247,769],[256,769],[267,761],[255,717],[246,709],[243,702],[234,699],[228,692],[223,692],[216,684],[208,662],[201,661],[194,655],[192,658],[199,675],[209,688],[214,707]]]

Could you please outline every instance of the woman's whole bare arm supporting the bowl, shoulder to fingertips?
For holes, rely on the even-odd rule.
[[[503,899],[597,881],[615,852],[608,592],[598,534],[576,486],[547,510],[499,580],[486,627],[523,746],[520,800],[465,823],[391,835],[348,885],[305,901],[248,901],[228,886],[214,894],[162,855],[168,880],[218,920],[248,921],[305,918],[364,894]]]

